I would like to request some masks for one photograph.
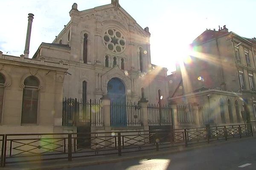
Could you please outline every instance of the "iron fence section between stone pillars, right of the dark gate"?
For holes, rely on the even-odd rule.
[[[178,125],[195,124],[195,107],[192,105],[177,105]]]

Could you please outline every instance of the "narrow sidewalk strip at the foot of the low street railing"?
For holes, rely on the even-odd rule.
[[[239,142],[241,140],[250,140],[255,139],[255,137],[246,137],[242,139],[232,139],[227,141],[215,141],[211,143],[201,143],[201,144],[192,144],[179,147],[170,147],[165,149],[160,149],[159,151],[150,150],[150,151],[141,151],[134,153],[123,153],[122,156],[118,155],[105,155],[105,156],[94,156],[87,158],[73,159],[72,161],[67,161],[67,159],[62,160],[53,160],[53,161],[42,161],[42,162],[33,162],[33,163],[19,163],[19,164],[6,164],[6,167],[0,167],[0,170],[56,170],[72,167],[83,167],[96,164],[106,164],[119,161],[127,161],[130,159],[145,159],[152,158],[154,156],[165,155],[170,153],[184,152],[188,150],[194,150],[201,147],[216,146],[231,142]],[[166,151],[167,150],[167,151]]]

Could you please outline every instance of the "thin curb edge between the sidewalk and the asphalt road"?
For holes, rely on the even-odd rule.
[[[30,168],[20,168],[20,167],[4,167],[0,168],[0,170],[57,170],[57,169],[67,169],[67,168],[73,168],[73,167],[83,167],[83,166],[91,166],[91,165],[99,165],[99,164],[107,164],[107,163],[115,163],[115,162],[120,162],[120,161],[128,161],[132,159],[145,159],[145,158],[152,158],[155,156],[160,156],[160,155],[166,155],[170,153],[179,153],[179,152],[184,152],[184,151],[189,151],[189,150],[195,150],[198,148],[205,148],[205,147],[210,147],[210,146],[218,146],[221,144],[227,144],[230,142],[237,142],[237,141],[243,141],[243,140],[250,140],[250,139],[255,139],[254,136],[251,137],[246,137],[242,139],[233,139],[233,140],[228,140],[228,141],[214,141],[211,143],[197,143],[197,144],[189,144],[188,147],[185,147],[184,145],[182,146],[174,146],[170,147],[169,151],[154,151],[154,153],[142,153],[141,155],[138,156],[124,156],[124,157],[118,157],[114,159],[106,159],[106,160],[100,160],[100,161],[87,161],[87,162],[67,162],[64,164],[57,164],[57,165],[49,165],[49,166],[43,166],[43,167],[30,167]],[[142,151],[143,152],[143,151]]]

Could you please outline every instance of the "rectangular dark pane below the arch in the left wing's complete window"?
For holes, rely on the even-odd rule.
[[[24,88],[22,103],[22,124],[36,124],[38,110],[38,90],[33,88]]]

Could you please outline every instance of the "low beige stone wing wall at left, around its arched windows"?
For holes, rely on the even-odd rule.
[[[62,62],[29,59],[3,55],[0,51],[0,74],[4,78],[3,106],[0,115],[1,133],[61,133],[62,97],[64,74]],[[37,120],[33,124],[22,123],[24,81],[35,77],[39,85]]]

